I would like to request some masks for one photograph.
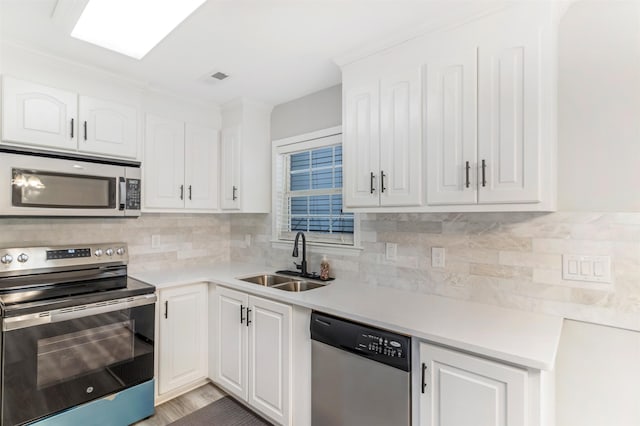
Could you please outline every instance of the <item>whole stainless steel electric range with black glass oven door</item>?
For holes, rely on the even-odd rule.
[[[124,243],[0,249],[0,425],[153,413],[155,288],[127,263]],[[125,390],[139,413],[98,404]]]

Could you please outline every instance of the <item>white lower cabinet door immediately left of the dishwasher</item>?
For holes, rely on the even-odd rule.
[[[291,306],[250,298],[249,404],[289,424]]]

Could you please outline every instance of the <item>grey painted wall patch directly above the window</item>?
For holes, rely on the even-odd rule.
[[[342,85],[276,106],[271,139],[283,139],[342,124]]]

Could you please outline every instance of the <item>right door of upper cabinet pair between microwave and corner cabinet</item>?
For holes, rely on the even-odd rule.
[[[220,177],[218,131],[187,124],[185,130],[185,207],[217,209]]]

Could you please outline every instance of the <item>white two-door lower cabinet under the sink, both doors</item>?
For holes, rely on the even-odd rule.
[[[278,424],[291,424],[292,308],[218,287],[214,381]]]

